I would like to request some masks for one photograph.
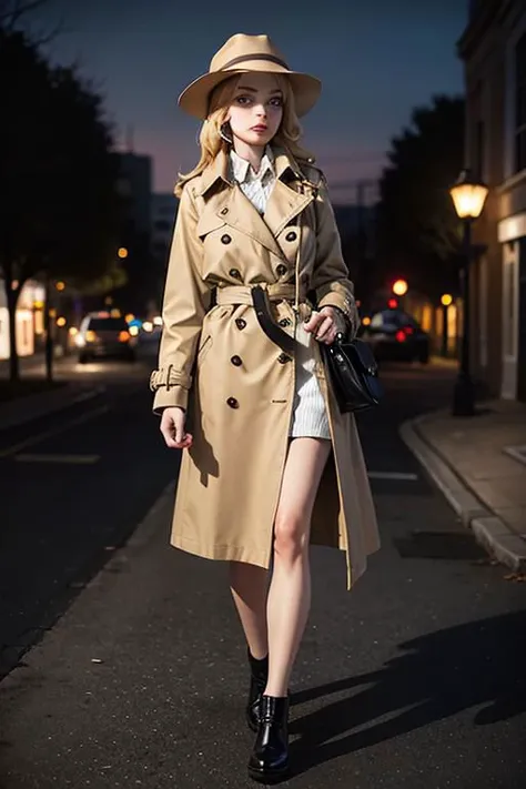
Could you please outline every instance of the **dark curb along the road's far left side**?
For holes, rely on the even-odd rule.
[[[43,394],[28,395],[13,399],[0,407],[0,433],[11,427],[27,424],[42,416],[64,411],[79,403],[98,397],[105,392],[104,386],[79,388],[74,384],[67,384],[60,390]]]

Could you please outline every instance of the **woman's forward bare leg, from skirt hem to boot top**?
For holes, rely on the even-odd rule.
[[[274,524],[274,567],[269,591],[266,696],[286,696],[311,607],[311,518],[331,442],[294,438],[289,447]]]

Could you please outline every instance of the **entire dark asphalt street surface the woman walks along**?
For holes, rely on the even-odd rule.
[[[385,404],[360,429],[383,547],[351,594],[344,557],[312,549],[283,786],[524,789],[526,586],[398,436],[447,404],[452,371],[382,374]],[[247,787],[226,567],[168,545],[178,454],[139,377],[75,407],[70,427],[54,415],[0,434],[3,665],[20,658],[0,684],[0,787]]]

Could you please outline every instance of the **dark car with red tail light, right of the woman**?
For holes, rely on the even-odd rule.
[[[382,310],[362,326],[362,340],[371,343],[378,362],[429,361],[429,335],[402,310]]]

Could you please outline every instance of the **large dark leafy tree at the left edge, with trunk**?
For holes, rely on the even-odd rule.
[[[102,99],[74,67],[51,68],[22,31],[0,29],[0,275],[19,375],[16,308],[31,277],[77,287],[114,269],[119,199]]]

